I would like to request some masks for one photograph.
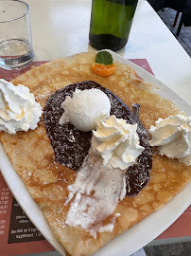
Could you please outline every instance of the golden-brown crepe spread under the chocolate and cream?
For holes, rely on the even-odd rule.
[[[143,82],[127,64],[116,64],[115,73],[107,78],[99,77],[91,70],[95,53],[80,53],[36,67],[12,80],[13,84],[25,84],[44,107],[47,98],[62,87],[83,81],[95,81],[108,88],[130,108],[140,104],[140,120],[149,129],[155,120],[182,113],[171,102],[161,99],[152,85]],[[103,224],[110,223],[115,213],[113,232],[97,233],[94,239],[80,227],[65,224],[69,205],[64,206],[67,186],[74,183],[77,173],[58,164],[54,158],[43,118],[34,131],[16,135],[0,133],[0,140],[14,170],[26,184],[27,190],[39,204],[52,231],[66,251],[74,256],[92,255],[114,237],[130,229],[152,211],[162,208],[191,179],[191,166],[177,159],[168,159],[153,150],[153,167],[148,185],[134,197],[127,196]]]

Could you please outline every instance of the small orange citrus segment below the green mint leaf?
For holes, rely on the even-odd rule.
[[[115,64],[92,64],[92,71],[101,77],[109,77],[116,70]]]

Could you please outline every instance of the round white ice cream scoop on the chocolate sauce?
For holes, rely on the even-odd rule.
[[[98,89],[76,90],[73,97],[67,96],[61,103],[64,113],[60,124],[71,121],[80,131],[96,129],[96,122],[110,116],[111,102],[108,96]]]

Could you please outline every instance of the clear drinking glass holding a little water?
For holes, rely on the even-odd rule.
[[[22,0],[0,0],[0,68],[22,68],[33,59],[28,5]]]

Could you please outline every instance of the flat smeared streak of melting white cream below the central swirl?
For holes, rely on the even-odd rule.
[[[118,201],[126,196],[125,172],[104,166],[103,159],[91,147],[75,183],[68,186],[65,205],[71,203],[65,223],[88,230],[94,238],[97,232],[113,231],[115,218],[106,226],[102,220],[113,214]]]

